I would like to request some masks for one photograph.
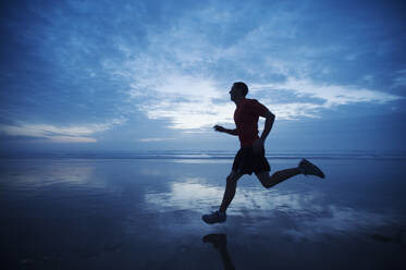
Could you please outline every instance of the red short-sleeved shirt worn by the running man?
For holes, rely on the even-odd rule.
[[[258,137],[258,119],[264,116],[267,107],[256,99],[245,98],[234,111],[234,122],[242,147],[251,146]]]

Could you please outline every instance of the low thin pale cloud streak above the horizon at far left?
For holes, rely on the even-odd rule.
[[[125,121],[125,119],[116,119],[103,124],[70,126],[29,123],[19,123],[16,125],[0,124],[0,132],[9,136],[47,138],[53,143],[97,143],[96,138],[88,136],[110,130],[112,126]]]

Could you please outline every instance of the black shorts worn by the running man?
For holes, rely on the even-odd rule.
[[[234,158],[233,171],[241,174],[258,174],[269,172],[271,167],[264,157],[264,150],[259,154],[253,152],[253,147],[243,147]]]

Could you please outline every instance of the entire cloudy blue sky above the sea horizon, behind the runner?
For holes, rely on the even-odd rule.
[[[1,1],[0,150],[406,150],[403,1]],[[260,131],[263,120],[259,122]]]

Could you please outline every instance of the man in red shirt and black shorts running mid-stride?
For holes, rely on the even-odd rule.
[[[275,115],[256,99],[245,98],[247,93],[248,87],[242,82],[234,83],[230,90],[231,100],[237,106],[234,111],[236,128],[227,130],[220,125],[214,126],[214,130],[218,132],[238,136],[241,149],[235,156],[233,169],[226,177],[225,192],[220,209],[201,217],[209,224],[225,221],[225,211],[234,198],[237,181],[244,174],[253,174],[254,172],[266,188],[298,174],[324,177],[323,172],[306,159],[303,159],[296,168],[278,171],[272,176],[269,174],[270,167],[264,157],[263,143],[272,130]],[[260,137],[258,137],[259,116],[266,118]]]

